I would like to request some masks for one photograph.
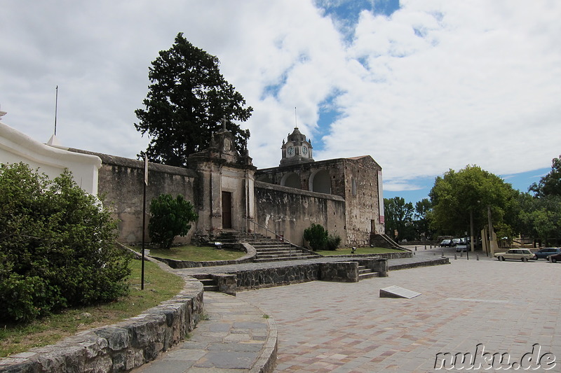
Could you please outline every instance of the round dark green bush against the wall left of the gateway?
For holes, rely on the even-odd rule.
[[[150,203],[148,231],[152,242],[161,248],[170,248],[176,236],[184,236],[191,229],[191,222],[198,219],[191,202],[182,195],[159,195]]]

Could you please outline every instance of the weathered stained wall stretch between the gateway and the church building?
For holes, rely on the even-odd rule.
[[[283,234],[292,244],[302,246],[304,230],[312,223],[323,225],[330,234],[339,234],[346,244],[342,197],[255,181],[255,205],[257,223]],[[257,232],[266,234],[259,227]]]

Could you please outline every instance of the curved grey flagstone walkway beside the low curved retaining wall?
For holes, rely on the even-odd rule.
[[[276,327],[263,311],[222,293],[204,300],[205,320],[187,341],[133,372],[258,372],[276,356]]]

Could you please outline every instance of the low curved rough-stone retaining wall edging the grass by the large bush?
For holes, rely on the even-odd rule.
[[[195,328],[202,311],[203,284],[186,276],[182,291],[157,307],[115,325],[0,359],[0,371],[128,372],[180,342]]]

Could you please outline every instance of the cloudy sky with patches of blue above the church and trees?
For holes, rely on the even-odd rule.
[[[63,146],[135,158],[149,66],[182,32],[254,108],[259,168],[297,125],[315,160],[371,155],[386,198],[468,164],[525,192],[561,154],[560,20],[556,0],[3,0],[2,122],[48,141],[58,86]]]

